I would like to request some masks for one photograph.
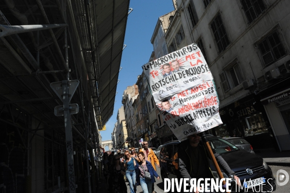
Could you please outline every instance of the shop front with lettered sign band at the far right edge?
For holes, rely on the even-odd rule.
[[[261,94],[280,151],[290,150],[290,85],[283,82]]]

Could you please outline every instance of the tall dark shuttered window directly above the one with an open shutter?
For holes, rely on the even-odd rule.
[[[218,47],[218,52],[222,52],[229,45],[229,38],[222,22],[220,14],[216,15],[213,23],[211,24],[212,30],[214,32],[214,39]]]

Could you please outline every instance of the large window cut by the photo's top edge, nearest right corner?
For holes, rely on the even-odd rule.
[[[241,0],[249,24],[266,9],[263,0]]]

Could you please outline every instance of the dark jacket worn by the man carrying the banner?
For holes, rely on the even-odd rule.
[[[179,159],[179,170],[181,172],[181,175],[183,178],[189,178],[189,180],[191,178],[196,178],[195,176],[193,176],[193,172],[192,172],[192,167],[191,167],[191,151],[190,151],[190,144],[189,144],[189,140],[185,140],[183,142],[181,142],[179,144],[178,147],[178,159]],[[214,178],[212,171],[210,169],[210,163],[208,161],[208,159],[211,159],[206,147],[203,145],[203,142],[200,141],[199,144],[199,150],[201,151],[202,154],[202,159],[204,159],[204,161],[206,162],[206,171],[207,171],[207,175],[209,177],[212,176],[212,178]],[[214,152],[214,150],[213,150]],[[218,163],[218,165],[224,170],[224,172],[229,176],[229,175],[235,175],[235,173],[229,168],[228,163],[226,163],[226,161],[222,158],[221,155],[219,155],[218,153],[214,152],[214,157]]]

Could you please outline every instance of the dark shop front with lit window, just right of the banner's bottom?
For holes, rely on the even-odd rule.
[[[213,128],[212,134],[243,137],[254,150],[276,148],[275,136],[259,96],[251,94],[220,109],[219,113],[223,124]]]

